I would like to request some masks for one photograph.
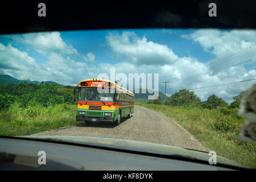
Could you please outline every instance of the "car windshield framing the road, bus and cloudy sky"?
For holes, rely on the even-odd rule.
[[[255,122],[255,60],[255,30],[0,35],[0,135],[163,144],[256,168],[243,127]]]

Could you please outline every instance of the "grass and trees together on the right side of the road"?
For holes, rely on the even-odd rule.
[[[183,126],[200,142],[217,155],[241,163],[245,167],[256,168],[256,144],[238,140],[245,118],[237,115],[242,93],[233,97],[229,106],[214,94],[201,102],[188,90],[180,90],[168,98],[167,105],[135,103],[148,109],[159,111]],[[200,101],[200,102],[199,102]]]

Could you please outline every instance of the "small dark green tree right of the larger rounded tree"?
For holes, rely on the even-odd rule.
[[[228,107],[228,103],[222,100],[222,98],[217,97],[215,94],[212,94],[208,97],[206,102],[203,102],[202,107],[216,109],[217,107]]]

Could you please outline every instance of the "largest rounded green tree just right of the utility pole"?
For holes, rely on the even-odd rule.
[[[168,97],[167,105],[182,106],[182,105],[200,105],[200,98],[193,91],[181,89],[179,92]]]

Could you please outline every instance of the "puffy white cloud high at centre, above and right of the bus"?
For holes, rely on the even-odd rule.
[[[178,58],[166,45],[147,42],[147,38],[139,38],[134,32],[109,33],[106,39],[115,57],[128,59],[134,64],[164,65],[174,63]]]

